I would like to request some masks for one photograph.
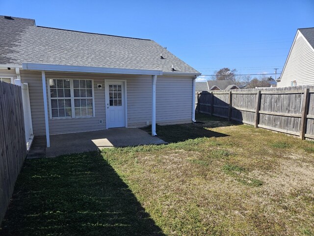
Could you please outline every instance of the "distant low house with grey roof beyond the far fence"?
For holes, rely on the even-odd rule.
[[[195,87],[197,92],[229,89],[239,88],[231,80],[208,80],[207,82],[197,82]]]

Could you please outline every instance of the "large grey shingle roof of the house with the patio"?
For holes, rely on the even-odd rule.
[[[22,62],[199,73],[153,40],[37,27],[0,16],[0,64]],[[160,59],[160,54],[165,59]]]

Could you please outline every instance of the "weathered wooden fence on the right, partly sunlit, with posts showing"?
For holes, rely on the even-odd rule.
[[[314,86],[195,94],[196,112],[314,139]]]

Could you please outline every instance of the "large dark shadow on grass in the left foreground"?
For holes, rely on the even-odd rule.
[[[99,152],[26,160],[1,227],[1,236],[163,235]]]

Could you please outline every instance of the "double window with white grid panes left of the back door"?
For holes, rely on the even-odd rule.
[[[50,118],[95,117],[94,83],[87,79],[48,79]]]

